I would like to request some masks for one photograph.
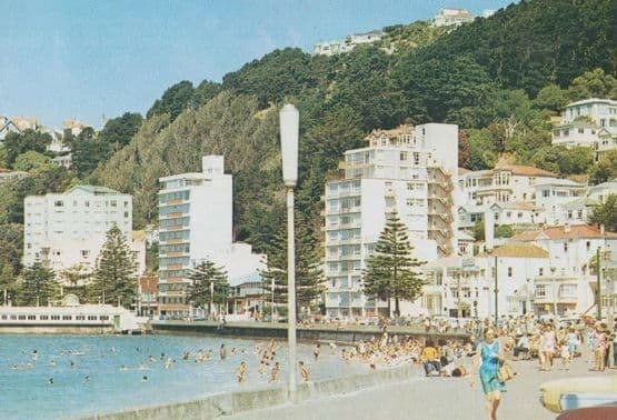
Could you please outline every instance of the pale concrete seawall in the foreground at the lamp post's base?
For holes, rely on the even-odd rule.
[[[418,378],[418,366],[404,366],[344,378],[325,379],[298,384],[297,402],[345,394],[385,383]],[[199,400],[127,410],[118,413],[89,417],[89,420],[168,420],[215,419],[249,410],[289,403],[285,387],[228,392]]]

